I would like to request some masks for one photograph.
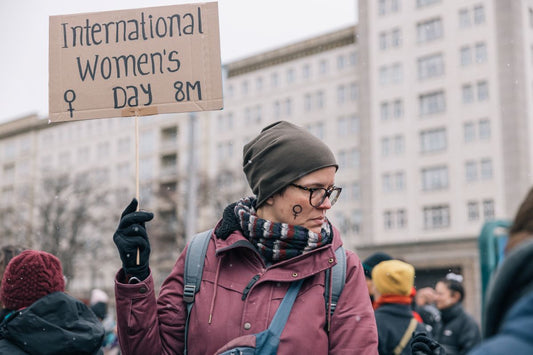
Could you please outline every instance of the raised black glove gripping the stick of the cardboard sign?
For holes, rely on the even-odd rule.
[[[148,267],[150,242],[144,223],[152,220],[154,214],[137,212],[137,204],[137,199],[134,198],[122,212],[113,241],[117,246],[126,275],[144,280],[150,275]],[[137,265],[137,250],[140,253],[139,265]]]

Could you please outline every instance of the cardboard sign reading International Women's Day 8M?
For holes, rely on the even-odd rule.
[[[218,4],[50,17],[52,122],[223,106]]]

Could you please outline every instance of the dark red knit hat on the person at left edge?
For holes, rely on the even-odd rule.
[[[7,265],[0,300],[6,309],[17,310],[57,291],[65,291],[61,261],[44,251],[26,250]]]

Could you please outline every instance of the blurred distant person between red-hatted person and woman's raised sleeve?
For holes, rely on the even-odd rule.
[[[91,291],[91,298],[89,300],[91,310],[102,322],[105,330],[104,341],[102,343],[102,350],[105,355],[119,354],[119,344],[116,331],[116,323],[113,317],[109,315],[108,305],[109,296],[104,290],[95,288]]]

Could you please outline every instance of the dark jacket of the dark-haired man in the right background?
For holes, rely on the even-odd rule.
[[[460,303],[441,310],[441,320],[435,340],[444,347],[446,355],[466,354],[481,341],[479,326]]]

